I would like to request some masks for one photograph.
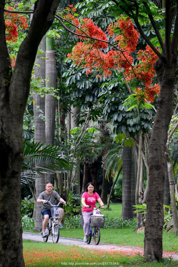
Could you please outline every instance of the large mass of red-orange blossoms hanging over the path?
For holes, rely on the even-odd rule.
[[[68,14],[71,20],[77,20],[73,15]],[[106,34],[94,25],[90,18],[82,19],[81,25],[77,20],[74,23],[78,27],[76,33],[88,35],[98,39],[106,40]],[[134,29],[131,19],[124,20],[122,17],[114,24],[110,24],[107,28],[108,33],[113,36],[116,28],[120,29],[120,34],[115,37],[118,41],[118,47],[125,51],[109,50],[108,53],[103,53],[102,48],[107,48],[107,43],[90,39],[87,43],[78,42],[72,53],[67,56],[75,63],[86,68],[86,74],[95,71],[96,76],[100,77],[99,72],[104,74],[104,77],[112,74],[112,69],[120,71],[121,68],[125,71],[127,82],[134,79],[143,85],[143,88],[133,89],[138,95],[138,99],[146,98],[147,101],[153,102],[155,95],[159,93],[160,86],[152,85],[152,79],[155,77],[153,64],[157,61],[158,56],[147,45],[145,50],[138,51],[137,66],[132,66],[133,57],[131,52],[134,52],[138,43],[139,33]],[[86,37],[80,37],[83,41],[88,40]],[[133,71],[134,69],[134,71]]]

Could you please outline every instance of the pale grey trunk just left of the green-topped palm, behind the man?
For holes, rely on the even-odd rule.
[[[46,39],[42,38],[42,43],[39,45],[39,49],[44,53],[46,51]],[[35,77],[36,79],[41,78],[45,80],[45,60],[41,59],[43,54],[37,55],[35,59],[35,63],[39,65],[38,68],[35,68]],[[45,86],[45,84],[43,85]],[[35,103],[33,104],[34,109],[34,142],[45,143],[46,135],[45,135],[45,121],[42,120],[39,115],[37,106],[43,111],[43,115],[45,116],[45,97],[41,97],[38,94],[33,94],[33,98]],[[45,188],[45,179],[44,177],[38,176],[35,180],[36,187],[36,197],[38,198],[39,194]],[[42,219],[41,219],[41,203],[34,202],[34,213],[35,213],[35,230],[39,231],[42,228]]]

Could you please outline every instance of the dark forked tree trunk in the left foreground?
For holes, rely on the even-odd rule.
[[[35,2],[28,36],[12,73],[5,40],[4,5],[0,1],[0,266],[22,267],[21,186],[22,126],[31,71],[42,37],[51,26],[58,0]]]

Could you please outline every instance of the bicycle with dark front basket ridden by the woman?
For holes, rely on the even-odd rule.
[[[93,208],[92,206],[89,205],[89,207],[92,208],[93,210],[100,209],[102,206]],[[87,236],[87,242],[86,242],[87,244],[90,244],[92,236],[93,236],[95,245],[99,244],[100,238],[101,238],[101,233],[99,229],[104,227],[104,220],[105,220],[104,216],[99,216],[98,214],[90,215],[90,228],[89,228],[89,235]],[[81,217],[81,224],[83,227],[83,224],[84,224],[83,217]],[[93,227],[93,231],[92,231],[92,227]]]

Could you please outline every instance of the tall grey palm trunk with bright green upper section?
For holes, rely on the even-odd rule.
[[[50,28],[52,29],[52,27]],[[46,87],[53,87],[56,89],[56,60],[54,53],[54,39],[46,38]],[[49,80],[48,80],[49,79]],[[56,98],[52,95],[46,94],[45,99],[45,132],[46,144],[54,145],[55,134],[55,111],[56,111]],[[46,174],[46,182],[53,184],[53,174]]]

